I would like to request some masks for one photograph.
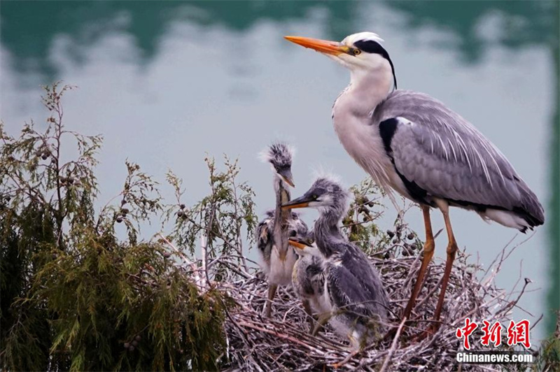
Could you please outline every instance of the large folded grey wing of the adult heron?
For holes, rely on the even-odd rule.
[[[374,120],[395,169],[416,196],[426,192],[462,206],[510,210],[531,226],[544,222],[537,197],[504,155],[440,101],[395,91],[376,108]]]

